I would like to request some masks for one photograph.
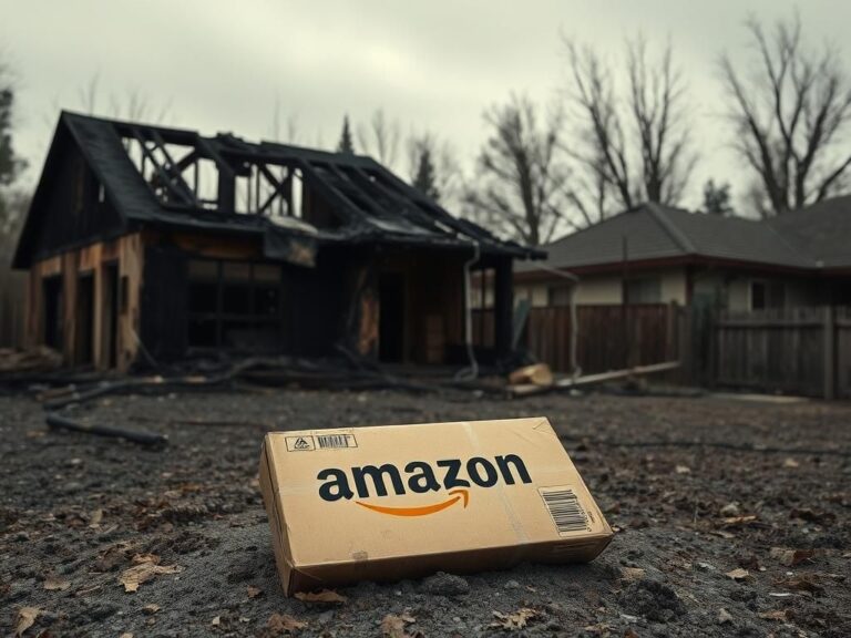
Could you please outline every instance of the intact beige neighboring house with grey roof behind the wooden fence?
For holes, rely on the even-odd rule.
[[[851,197],[770,220],[645,204],[542,246],[519,264],[516,299],[533,307],[711,303],[730,310],[851,305]]]

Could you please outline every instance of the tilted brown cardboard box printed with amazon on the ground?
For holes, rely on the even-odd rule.
[[[587,562],[612,538],[544,418],[273,432],[260,488],[287,595]]]

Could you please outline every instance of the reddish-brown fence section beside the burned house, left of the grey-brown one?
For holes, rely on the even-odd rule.
[[[583,373],[676,360],[683,338],[685,309],[647,303],[576,307],[576,362]],[[558,372],[571,372],[570,307],[532,308],[520,346]],[[493,313],[473,311],[473,341],[493,343]]]

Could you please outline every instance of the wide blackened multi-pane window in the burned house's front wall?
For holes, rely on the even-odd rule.
[[[275,264],[192,259],[188,343],[195,348],[277,350],[283,271]]]

